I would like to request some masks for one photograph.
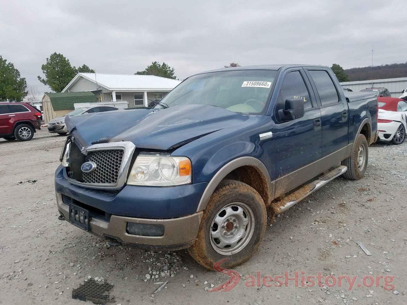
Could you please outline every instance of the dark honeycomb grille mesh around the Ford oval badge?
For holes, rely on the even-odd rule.
[[[123,149],[96,150],[86,156],[86,161],[96,164],[96,170],[90,173],[83,173],[84,183],[117,183],[120,166],[123,161]]]

